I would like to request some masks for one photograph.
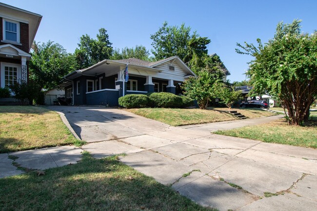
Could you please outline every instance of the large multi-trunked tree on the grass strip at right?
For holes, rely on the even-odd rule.
[[[258,47],[237,43],[239,54],[255,59],[250,62],[247,76],[253,85],[252,94],[268,94],[281,100],[287,109],[290,124],[308,121],[309,108],[317,99],[317,32],[300,33],[300,20],[277,24],[273,39]]]

